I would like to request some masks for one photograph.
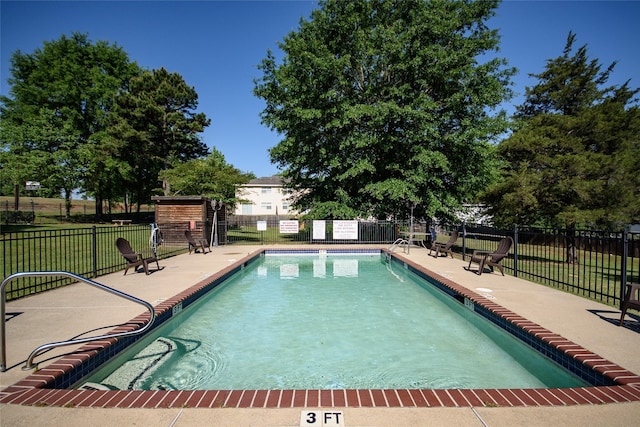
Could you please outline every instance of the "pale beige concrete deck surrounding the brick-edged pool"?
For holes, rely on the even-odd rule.
[[[131,272],[123,276],[122,272],[118,272],[101,276],[96,281],[155,306],[248,254],[266,247],[220,246],[206,255],[185,254],[162,260],[162,271],[149,276]],[[337,246],[331,246],[335,247]],[[291,246],[284,248],[290,249]],[[615,308],[511,276],[502,277],[499,273],[477,276],[464,269],[467,264],[462,260],[435,259],[428,256],[428,251],[423,248],[412,247],[410,254],[401,250],[396,252],[631,372],[640,373],[640,322],[634,314],[627,315],[624,327],[618,327],[620,312]],[[113,326],[133,319],[143,310],[136,304],[91,286],[74,284],[10,302],[6,311],[8,371],[0,373],[0,389],[31,374],[31,371],[23,371],[21,367],[37,346],[80,335],[106,333]],[[71,349],[73,347],[58,348],[37,356],[35,360],[42,368]],[[99,426],[116,423],[153,426],[298,426],[301,425],[301,413],[306,409],[323,410],[313,407],[120,409],[1,404],[0,426]],[[344,407],[324,410],[331,409],[342,411],[342,425],[345,426],[513,426],[548,425],[551,422],[581,426],[627,426],[637,424],[640,420],[640,402],[637,401],[552,407]]]

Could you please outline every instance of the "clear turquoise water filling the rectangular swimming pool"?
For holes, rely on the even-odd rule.
[[[587,385],[381,255],[263,256],[86,381],[113,389]]]

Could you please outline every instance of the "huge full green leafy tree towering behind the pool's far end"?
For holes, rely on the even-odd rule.
[[[447,217],[492,179],[495,108],[512,69],[489,58],[497,1],[321,1],[271,52],[254,93],[283,139],[295,206],[331,217]],[[489,58],[489,59],[487,59]],[[485,60],[482,62],[482,60]]]

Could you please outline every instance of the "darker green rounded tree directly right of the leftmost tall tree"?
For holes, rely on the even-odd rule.
[[[170,165],[207,154],[200,140],[210,120],[196,113],[198,94],[178,73],[145,71],[131,79],[116,98],[108,140],[119,162],[114,165],[131,203],[149,200],[158,174]]]

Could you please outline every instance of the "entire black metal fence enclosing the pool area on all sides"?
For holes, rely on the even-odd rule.
[[[391,245],[409,227],[390,221],[298,221],[281,217],[230,216],[219,224],[221,245],[239,244],[383,244]],[[159,225],[169,233],[172,225]],[[186,226],[185,226],[186,227]],[[640,233],[636,230],[592,231],[514,226],[497,229],[462,224],[454,253],[466,259],[473,250],[492,250],[504,236],[514,239],[506,272],[618,306],[624,284],[640,281]],[[449,229],[450,230],[450,229]],[[421,230],[425,231],[425,230]],[[448,232],[440,229],[439,240]],[[96,277],[124,268],[115,240],[124,237],[136,251],[151,253],[148,225],[101,226],[49,231],[5,232],[0,236],[2,275],[20,271],[64,270]],[[165,242],[157,256],[166,258],[187,250],[184,243]],[[7,289],[7,300],[67,284],[66,279],[25,278]]]

